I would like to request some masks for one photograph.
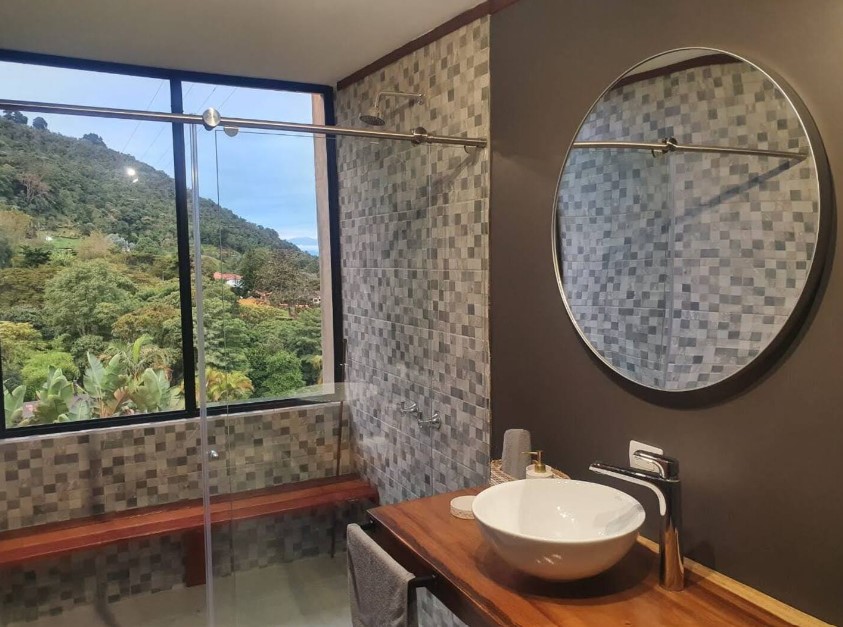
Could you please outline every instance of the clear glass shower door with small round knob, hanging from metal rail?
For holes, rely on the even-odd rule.
[[[455,273],[467,262],[437,252],[463,235],[473,201],[463,200],[455,216],[447,198],[459,178],[442,172],[432,204],[430,146],[338,142],[347,351],[344,383],[334,386],[325,366],[331,346],[323,343],[332,296],[324,283],[326,247],[314,256],[312,244],[293,231],[307,228],[293,221],[310,206],[310,233],[317,244],[325,241],[319,235],[327,223],[315,210],[318,157],[333,141],[200,131],[200,368],[214,516],[210,581],[220,625],[350,620],[344,531],[363,519],[369,503],[241,517],[244,498],[271,501],[353,472],[376,486],[382,503],[393,503],[485,477],[482,460],[474,463],[476,453],[463,450],[476,436],[471,412],[457,398],[479,402],[468,378],[472,362],[483,362],[472,357],[482,342],[467,336],[475,331],[455,333],[459,321],[449,317],[454,299],[468,311],[475,297],[455,289]],[[460,157],[461,148],[447,149],[459,151],[466,168],[476,165]],[[300,167],[314,160],[314,170]],[[237,237],[243,228],[251,229],[248,238]],[[293,238],[295,246],[281,241]],[[279,406],[284,399],[294,406]],[[437,412],[440,429],[433,425]]]

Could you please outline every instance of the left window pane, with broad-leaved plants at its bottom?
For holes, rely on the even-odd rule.
[[[73,100],[64,72],[78,81],[75,71],[30,66],[44,81],[34,90],[9,66],[17,64],[0,64],[2,97]],[[77,83],[77,100],[93,91],[97,104],[150,102],[154,81],[103,76],[115,82]],[[120,90],[134,80],[140,100],[130,103]],[[119,98],[109,99],[111,89]],[[0,115],[8,427],[183,407],[172,172],[168,124]]]

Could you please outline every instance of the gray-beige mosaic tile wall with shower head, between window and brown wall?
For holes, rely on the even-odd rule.
[[[489,21],[478,20],[349,86],[337,122],[382,90],[387,129],[488,137]],[[352,447],[383,502],[487,480],[489,464],[488,152],[341,138],[344,324]],[[438,411],[441,431],[398,411]],[[422,595],[423,622],[449,613]]]

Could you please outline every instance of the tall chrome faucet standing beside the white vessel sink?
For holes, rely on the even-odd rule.
[[[649,451],[635,451],[635,459],[647,462],[653,470],[638,470],[594,462],[589,470],[650,488],[659,500],[659,582],[667,590],[685,587],[685,565],[682,562],[682,500],[679,462]]]

